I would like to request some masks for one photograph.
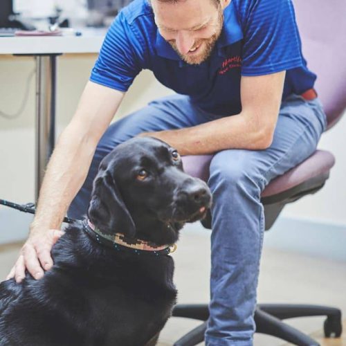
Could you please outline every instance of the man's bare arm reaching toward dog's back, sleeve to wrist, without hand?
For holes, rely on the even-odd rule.
[[[31,230],[60,228],[88,173],[95,148],[124,93],[88,82],[78,109],[61,134],[39,191]]]

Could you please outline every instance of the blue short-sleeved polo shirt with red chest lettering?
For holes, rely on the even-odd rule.
[[[201,109],[225,116],[242,110],[242,75],[286,70],[283,100],[316,80],[302,57],[291,0],[232,0],[215,48],[199,65],[181,60],[158,32],[147,0],[135,0],[109,28],[90,80],[127,91],[142,69]]]

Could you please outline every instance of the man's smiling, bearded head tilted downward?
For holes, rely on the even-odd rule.
[[[188,64],[208,59],[231,0],[151,0],[161,36]]]

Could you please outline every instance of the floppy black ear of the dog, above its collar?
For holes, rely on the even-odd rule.
[[[127,237],[136,233],[134,220],[107,170],[99,172],[93,182],[88,217],[104,233],[123,233]]]

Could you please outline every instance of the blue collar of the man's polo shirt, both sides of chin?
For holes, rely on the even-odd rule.
[[[216,48],[220,56],[224,56],[222,53],[225,46],[229,46],[243,38],[242,28],[239,25],[237,19],[237,11],[232,1],[224,10],[224,26],[221,31],[221,35],[216,43]],[[182,61],[179,55],[174,51],[172,46],[165,41],[156,30],[156,42],[155,48],[158,56],[165,57],[167,59]]]

